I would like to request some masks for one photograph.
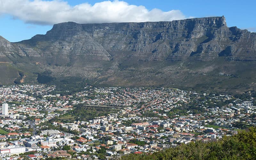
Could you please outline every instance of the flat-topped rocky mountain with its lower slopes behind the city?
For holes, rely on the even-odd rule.
[[[52,77],[77,76],[99,85],[193,87],[243,78],[240,73],[256,60],[256,33],[228,28],[224,17],[67,22],[17,43],[0,37],[0,56],[33,76],[48,70]],[[236,76],[223,78],[219,72]]]

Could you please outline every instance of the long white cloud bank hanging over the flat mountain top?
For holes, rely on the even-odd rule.
[[[186,17],[180,10],[163,12],[149,11],[145,6],[130,5],[124,1],[103,1],[70,6],[61,0],[0,0],[0,14],[10,14],[14,18],[41,25],[52,25],[73,21],[76,23],[104,22],[145,22],[172,21]]]

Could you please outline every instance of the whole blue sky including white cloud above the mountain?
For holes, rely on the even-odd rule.
[[[222,15],[225,16],[228,27],[237,26],[256,32],[256,1],[253,0],[215,0],[210,3],[205,0],[102,2],[103,0],[0,0],[0,36],[17,42],[36,34],[45,34],[53,24],[65,21],[160,21]],[[98,5],[94,5],[95,3]],[[118,8],[120,11],[116,11]]]

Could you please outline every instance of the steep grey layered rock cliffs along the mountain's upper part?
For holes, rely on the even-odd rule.
[[[248,43],[249,42],[249,43]],[[46,35],[15,43],[28,56],[84,55],[111,60],[117,52],[138,60],[255,60],[256,34],[228,28],[224,17],[171,22],[55,24]],[[242,47],[243,46],[243,47]],[[31,48],[36,47],[36,50]],[[246,53],[246,54],[244,54]]]

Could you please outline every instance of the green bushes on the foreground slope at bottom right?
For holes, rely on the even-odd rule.
[[[129,154],[122,156],[122,160],[146,159],[255,159],[256,157],[256,128],[249,132],[239,132],[234,136],[224,136],[219,141],[203,143],[201,141],[182,144],[176,148],[169,148],[149,155]]]

